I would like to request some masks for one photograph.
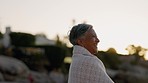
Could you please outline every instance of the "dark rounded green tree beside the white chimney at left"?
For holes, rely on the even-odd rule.
[[[10,40],[11,40],[11,44],[14,46],[34,45],[35,36],[28,33],[11,32]]]

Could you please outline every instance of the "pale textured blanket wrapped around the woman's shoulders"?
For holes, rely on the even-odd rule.
[[[104,64],[85,48],[75,45],[69,69],[68,83],[114,83]]]

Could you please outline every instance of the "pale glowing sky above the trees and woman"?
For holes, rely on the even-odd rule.
[[[0,30],[49,39],[67,35],[76,23],[92,24],[100,39],[99,50],[113,47],[118,53],[134,44],[148,48],[148,0],[0,0]]]

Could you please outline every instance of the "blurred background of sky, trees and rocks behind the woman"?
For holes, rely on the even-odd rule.
[[[115,83],[148,83],[147,0],[0,0],[0,82],[67,83],[71,27],[93,25]]]

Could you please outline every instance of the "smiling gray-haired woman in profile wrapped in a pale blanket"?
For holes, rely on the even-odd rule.
[[[73,44],[73,56],[68,83],[114,83],[107,75],[102,61],[96,57],[100,40],[92,25],[73,26],[69,40]]]

